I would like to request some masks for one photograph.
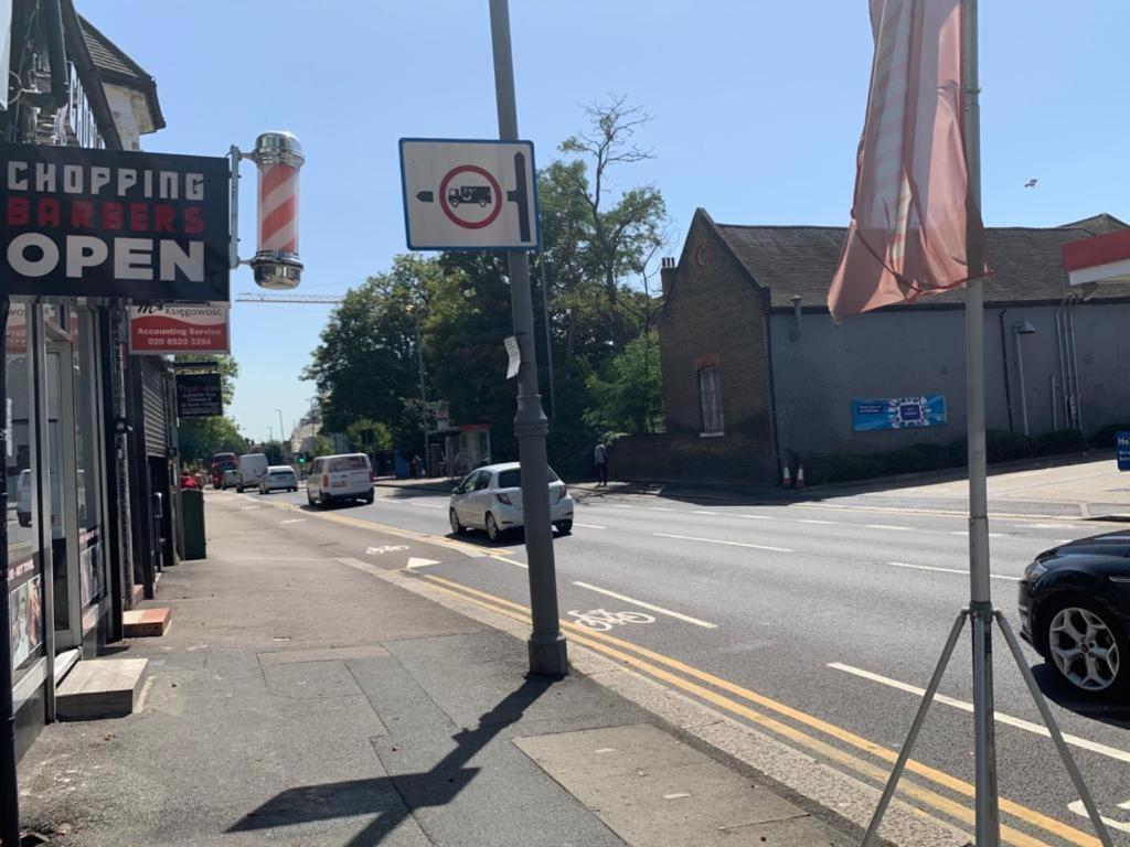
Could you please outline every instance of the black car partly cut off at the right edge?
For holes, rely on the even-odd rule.
[[[1020,635],[1071,686],[1130,693],[1130,531],[1040,553],[1020,582]]]

